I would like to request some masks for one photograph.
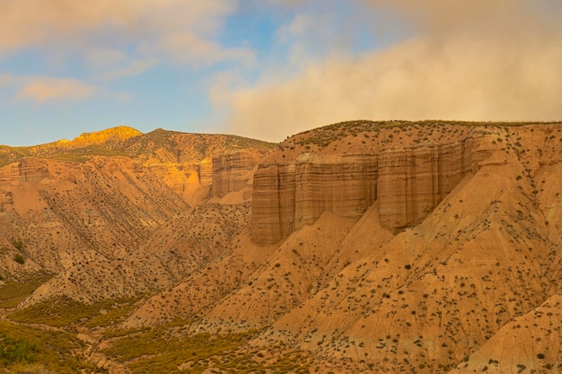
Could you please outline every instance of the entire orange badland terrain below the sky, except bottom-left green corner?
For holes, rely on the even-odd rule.
[[[0,160],[0,322],[63,326],[85,372],[562,370],[562,124],[122,126]]]

